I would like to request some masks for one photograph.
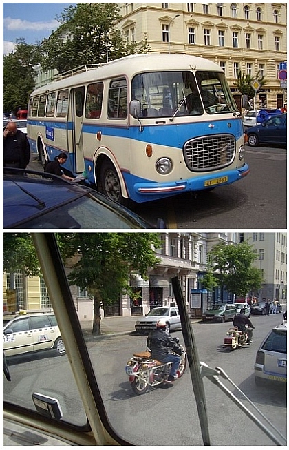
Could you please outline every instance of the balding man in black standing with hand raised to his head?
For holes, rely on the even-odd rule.
[[[30,145],[27,136],[9,121],[3,129],[3,167],[25,169],[30,161]],[[6,173],[14,174],[9,170]],[[21,173],[21,172],[18,172]]]

